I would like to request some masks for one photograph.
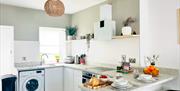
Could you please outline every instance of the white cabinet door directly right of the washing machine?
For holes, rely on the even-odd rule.
[[[63,67],[45,69],[45,91],[63,91]]]

